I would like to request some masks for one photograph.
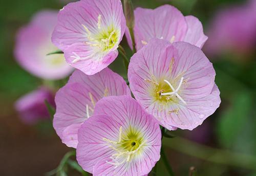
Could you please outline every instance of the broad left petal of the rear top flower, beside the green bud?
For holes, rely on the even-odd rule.
[[[135,10],[135,42],[136,49],[141,49],[142,42],[149,42],[152,38],[171,41],[182,41],[186,35],[187,24],[182,13],[173,6],[164,5],[156,9],[137,8]],[[129,31],[126,31],[126,33]],[[130,41],[130,34],[126,34]]]

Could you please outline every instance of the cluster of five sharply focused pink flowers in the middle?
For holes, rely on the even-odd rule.
[[[69,3],[52,33],[76,69],[56,93],[53,127],[93,175],[147,175],[160,159],[165,128],[192,130],[221,102],[196,17],[170,5],[127,14],[128,27],[120,0]],[[108,68],[120,48],[125,55],[124,33],[137,50],[126,58],[126,81]]]

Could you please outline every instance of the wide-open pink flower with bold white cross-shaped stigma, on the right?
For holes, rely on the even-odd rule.
[[[216,111],[220,92],[212,64],[196,46],[152,39],[129,65],[136,100],[167,129],[194,129]]]

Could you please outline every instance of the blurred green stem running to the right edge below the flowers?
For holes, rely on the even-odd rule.
[[[208,162],[256,170],[255,156],[208,147],[180,137],[163,140],[163,145]]]

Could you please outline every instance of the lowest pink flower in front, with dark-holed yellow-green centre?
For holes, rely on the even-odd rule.
[[[93,175],[146,175],[160,159],[161,131],[131,97],[106,97],[78,131],[77,161]]]

